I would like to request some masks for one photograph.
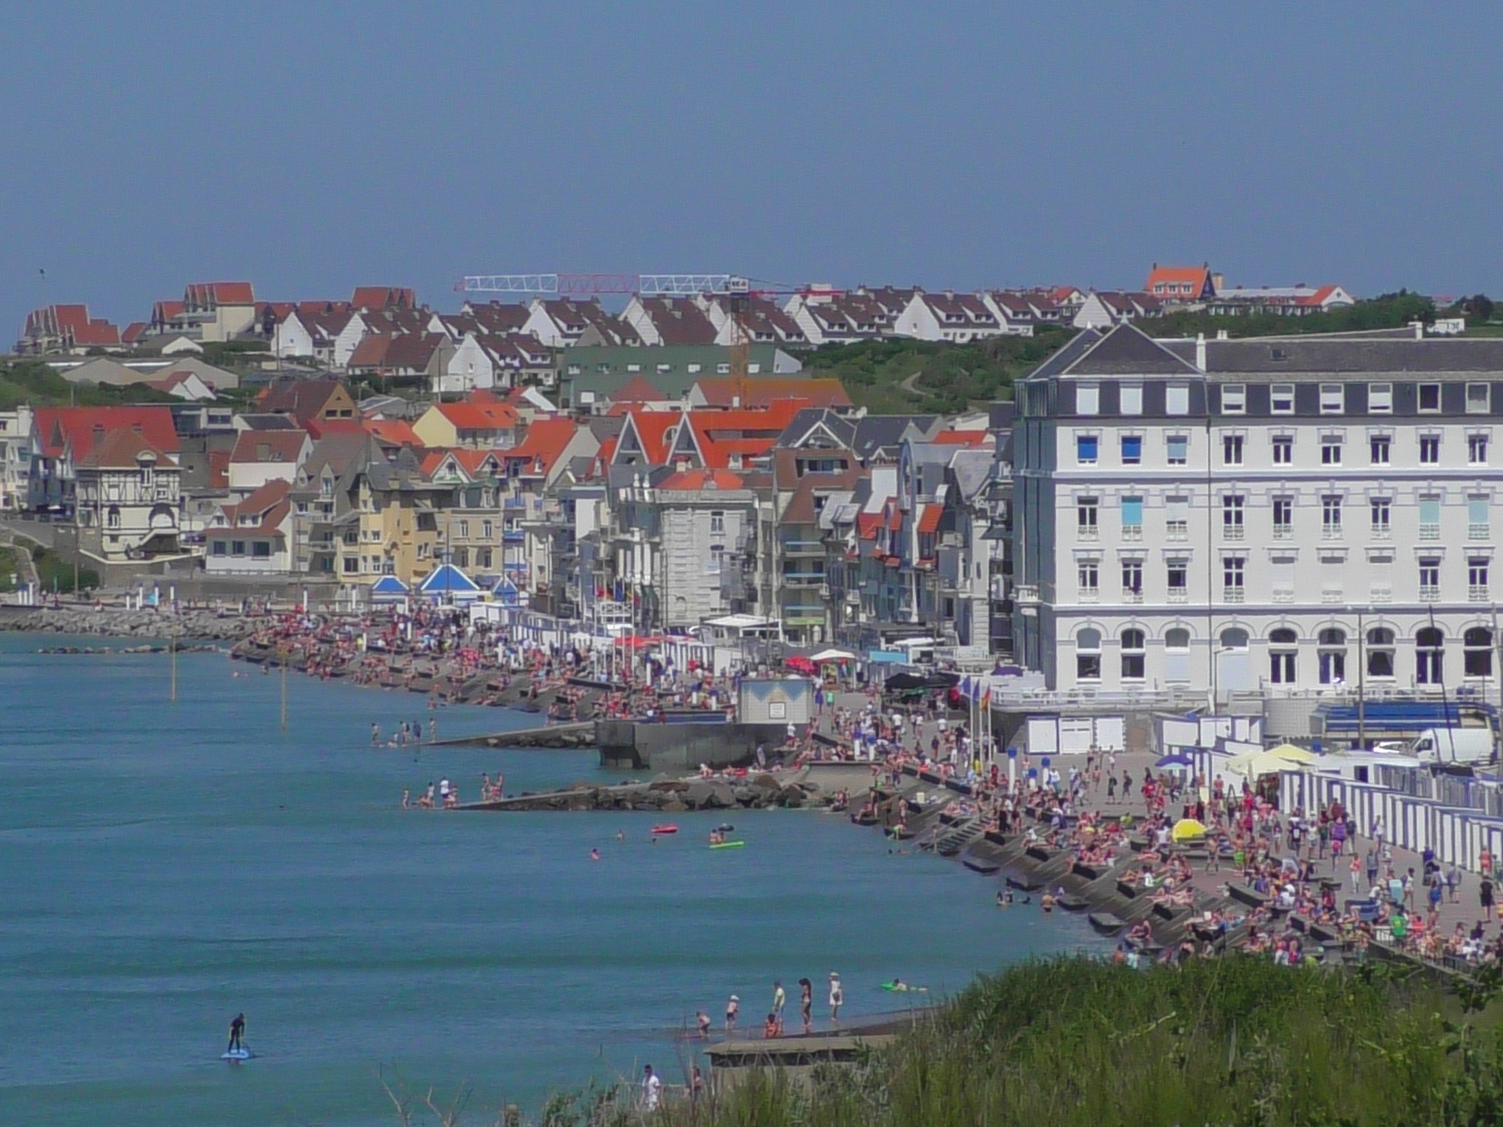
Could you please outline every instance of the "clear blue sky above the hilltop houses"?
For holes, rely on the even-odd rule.
[[[493,270],[1503,292],[1497,3],[6,11],[0,325]]]

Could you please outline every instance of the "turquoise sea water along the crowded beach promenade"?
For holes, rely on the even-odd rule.
[[[443,774],[464,798],[482,771],[612,775],[594,753],[373,750],[371,721],[427,726],[422,699],[302,676],[284,733],[275,675],[183,655],[171,705],[165,657],[29,652],[53,643],[0,636],[0,1122],[395,1122],[382,1067],[537,1107],[646,1061],[679,1080],[675,1031],[730,993],[756,1023],[774,978],[797,1019],[795,981],[837,969],[858,1016],[893,1008],[894,975],[944,992],[1097,947],[822,813],[742,811],[747,848],[711,852],[709,814],[651,844],[651,814],[403,811]],[[239,1010],[260,1056],[227,1065]]]

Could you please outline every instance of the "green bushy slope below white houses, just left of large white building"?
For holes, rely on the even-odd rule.
[[[890,338],[825,346],[803,361],[810,376],[839,379],[851,401],[873,413],[954,413],[1012,398],[1013,380],[1073,335],[1073,329],[1051,328],[1037,337],[975,344]],[[908,380],[912,391],[903,386]]]

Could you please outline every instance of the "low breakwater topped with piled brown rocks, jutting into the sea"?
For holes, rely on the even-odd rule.
[[[631,781],[616,786],[574,786],[514,798],[469,802],[461,810],[651,810],[676,814],[688,810],[767,810],[773,807],[798,810],[828,805],[833,790],[813,781],[806,771],[786,777],[771,772],[748,775],[745,780],[726,778],[655,778],[649,783]]]

